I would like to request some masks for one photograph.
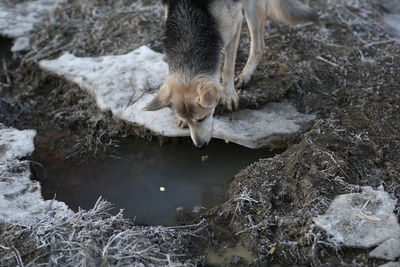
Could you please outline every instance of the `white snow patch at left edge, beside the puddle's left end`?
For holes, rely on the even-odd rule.
[[[63,202],[44,201],[39,182],[30,179],[29,163],[17,159],[33,152],[35,135],[0,125],[0,222],[33,225],[72,214]]]

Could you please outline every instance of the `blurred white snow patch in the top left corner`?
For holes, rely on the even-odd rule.
[[[8,6],[0,3],[0,35],[17,38],[33,30],[44,15],[65,0],[36,0]]]

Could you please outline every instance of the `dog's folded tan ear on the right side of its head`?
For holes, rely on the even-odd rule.
[[[203,108],[213,108],[221,99],[222,87],[214,82],[203,82],[197,87],[197,101]]]

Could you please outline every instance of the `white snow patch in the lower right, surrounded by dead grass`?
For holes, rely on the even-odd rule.
[[[314,222],[344,246],[378,246],[371,257],[397,258],[399,250],[388,246],[400,241],[400,225],[394,214],[396,203],[383,188],[374,190],[366,186],[362,193],[337,196],[326,214],[314,218]]]

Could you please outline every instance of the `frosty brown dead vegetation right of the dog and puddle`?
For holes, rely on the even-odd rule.
[[[221,237],[252,248],[257,262],[375,266],[382,262],[333,242],[312,218],[362,185],[383,185],[400,198],[400,47],[376,2],[315,2],[317,25],[271,25],[278,39],[267,39],[265,68],[244,94],[267,101],[286,94],[321,118],[282,155],[239,173],[210,218]],[[257,89],[268,68],[269,96]]]

